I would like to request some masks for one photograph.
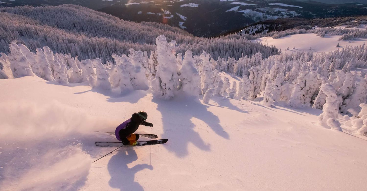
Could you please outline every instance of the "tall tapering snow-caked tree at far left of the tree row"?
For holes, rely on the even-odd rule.
[[[28,59],[23,55],[21,49],[17,45],[17,41],[14,40],[9,45],[10,54],[9,62],[11,70],[15,78],[23,76],[34,76],[34,73],[30,67]]]

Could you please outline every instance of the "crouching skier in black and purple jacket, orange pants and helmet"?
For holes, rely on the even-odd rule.
[[[124,145],[136,145],[139,134],[134,132],[138,130],[139,125],[153,126],[152,123],[145,121],[147,117],[148,114],[144,111],[132,114],[130,119],[117,126],[115,130],[116,139]]]

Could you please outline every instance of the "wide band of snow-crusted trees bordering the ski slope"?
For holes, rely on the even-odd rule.
[[[214,60],[206,52],[196,56],[190,50],[182,58],[181,53],[176,55],[176,42],[168,43],[161,35],[156,38],[157,50],[150,57],[146,52],[130,49],[128,56],[112,55],[117,65],[103,65],[101,59],[79,61],[69,55],[53,54],[48,47],[37,49],[34,54],[25,45],[16,43],[10,44],[9,55],[0,57],[2,78],[36,75],[65,85],[88,82],[92,88],[120,93],[151,88],[154,96],[163,99],[174,98],[179,93],[203,95],[204,103],[214,94],[236,99],[262,98],[264,106],[283,102],[292,107],[325,109],[326,113],[331,112],[330,108],[342,114],[356,113],[359,105],[366,102],[366,73],[351,72],[353,68],[367,67],[364,44],[320,54],[297,52],[263,59],[258,53],[238,60]],[[239,88],[236,83],[230,87],[227,79],[223,82],[219,71],[241,77]],[[357,76],[363,79],[357,82]],[[334,87],[338,104],[325,107],[328,96],[335,97],[333,92],[323,94],[330,87]],[[329,99],[329,102],[333,101]],[[337,113],[325,114],[320,121],[338,129]]]

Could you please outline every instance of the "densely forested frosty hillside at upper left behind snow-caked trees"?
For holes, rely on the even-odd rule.
[[[264,57],[277,54],[275,47],[254,44],[238,35],[200,38],[182,29],[152,22],[130,22],[78,5],[56,7],[5,7],[0,9],[0,52],[9,52],[13,40],[31,51],[48,46],[54,52],[101,58],[113,62],[112,54],[128,54],[128,49],[154,50],[155,38],[165,35],[177,43],[177,52],[191,49],[194,54],[207,51],[213,58],[239,58],[261,52]],[[229,47],[231,49],[229,49]]]

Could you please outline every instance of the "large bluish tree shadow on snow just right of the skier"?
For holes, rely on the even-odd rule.
[[[166,101],[153,98],[152,101],[157,103],[157,110],[162,115],[164,130],[162,137],[173,140],[165,147],[178,157],[188,155],[187,147],[189,143],[194,144],[201,150],[210,151],[210,144],[204,143],[199,133],[194,130],[196,125],[191,121],[192,118],[197,118],[206,123],[197,128],[207,130],[211,128],[217,135],[229,139],[228,133],[219,124],[219,118],[208,111],[208,106],[201,104],[197,98],[182,95],[175,97],[174,100]]]

